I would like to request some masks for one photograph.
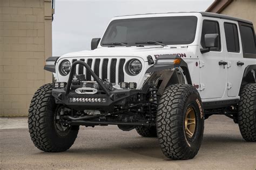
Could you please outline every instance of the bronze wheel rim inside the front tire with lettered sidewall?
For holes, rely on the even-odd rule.
[[[188,107],[185,114],[185,134],[187,138],[192,138],[196,130],[196,114],[193,107]]]

